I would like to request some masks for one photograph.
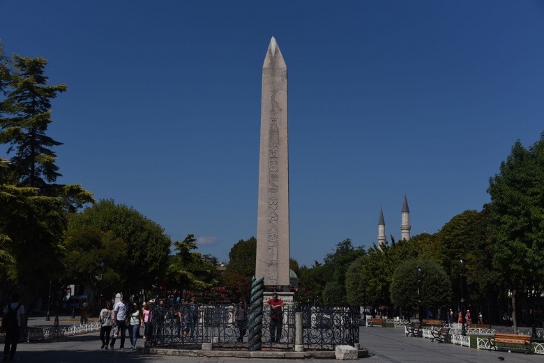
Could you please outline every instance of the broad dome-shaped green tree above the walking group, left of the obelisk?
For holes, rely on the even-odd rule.
[[[127,256],[122,261],[126,272],[121,276],[125,282],[118,288],[133,291],[155,284],[157,277],[164,277],[172,242],[156,222],[134,208],[115,204],[113,199],[101,199],[81,213],[70,215],[68,235],[87,227],[104,233],[111,231],[114,238],[126,243]]]

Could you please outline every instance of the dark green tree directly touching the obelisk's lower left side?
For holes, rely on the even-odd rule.
[[[251,278],[255,275],[257,258],[257,239],[239,240],[229,252],[229,264],[225,270],[225,279],[229,290],[241,298],[249,298]]]

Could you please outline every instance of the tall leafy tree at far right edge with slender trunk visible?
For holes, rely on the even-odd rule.
[[[490,234],[493,265],[511,291],[514,330],[517,332],[517,291],[544,274],[544,132],[533,146],[518,140],[499,173],[490,178]]]

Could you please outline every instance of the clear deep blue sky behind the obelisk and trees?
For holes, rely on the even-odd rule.
[[[0,0],[43,57],[62,178],[227,261],[257,234],[262,65],[287,63],[290,254],[435,233],[544,131],[544,1]],[[0,156],[6,155],[0,145]]]

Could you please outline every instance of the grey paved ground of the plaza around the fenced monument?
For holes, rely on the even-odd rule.
[[[46,322],[45,316],[31,316],[29,326],[53,325]],[[75,319],[77,320],[77,319]],[[59,316],[59,325],[73,325],[69,316]],[[79,320],[76,322],[79,323]],[[279,359],[279,358],[235,358],[235,357],[183,357],[179,355],[149,355],[136,351],[101,350],[99,333],[19,343],[17,346],[16,362],[36,363],[96,363],[98,361],[115,362],[153,362],[153,363],[332,363],[333,359]],[[126,343],[129,346],[130,343]],[[139,339],[137,346],[143,346],[143,339]],[[119,347],[119,342],[116,342]],[[542,355],[524,355],[523,353],[508,353],[506,351],[488,351],[441,344],[430,339],[406,337],[404,329],[389,327],[361,327],[361,348],[368,349],[368,357],[361,358],[363,363],[372,362],[455,362],[455,363],[531,363],[544,362]],[[140,349],[143,351],[143,349]],[[172,352],[170,352],[172,353]],[[500,358],[504,358],[501,360]]]

